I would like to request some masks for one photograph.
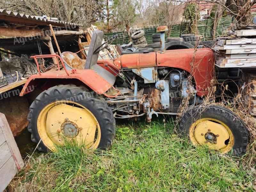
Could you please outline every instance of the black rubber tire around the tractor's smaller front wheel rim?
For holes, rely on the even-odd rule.
[[[245,154],[246,147],[249,143],[247,127],[244,122],[228,108],[218,105],[196,106],[190,108],[180,121],[179,131],[184,135],[192,134],[190,132],[192,124],[205,118],[216,119],[227,125],[231,130],[234,143],[233,147],[231,146],[232,148],[226,154],[240,157]],[[191,136],[189,136],[189,139],[191,140]]]

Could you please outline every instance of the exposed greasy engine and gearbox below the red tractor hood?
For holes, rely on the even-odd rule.
[[[196,99],[199,101],[192,78],[189,80],[189,74],[182,69],[134,68],[123,69],[121,74],[123,78],[117,79],[115,86],[125,101],[107,101],[116,118],[146,114],[151,121],[153,114],[177,115],[184,98],[188,98],[190,105],[195,104]],[[107,94],[114,94],[113,91],[110,89]]]

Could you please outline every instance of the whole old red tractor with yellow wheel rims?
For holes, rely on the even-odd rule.
[[[164,50],[125,54],[113,60],[98,60],[103,32],[95,31],[86,62],[75,53],[33,56],[59,58],[64,70],[32,75],[20,96],[41,87],[30,106],[28,131],[38,150],[54,150],[64,140],[85,143],[88,148],[108,149],[116,132],[117,119],[138,120],[160,114],[177,115],[188,98],[189,109],[180,122],[180,131],[194,145],[207,144],[221,153],[242,156],[249,142],[243,121],[227,108],[200,106],[208,94],[214,70],[211,49]],[[105,45],[104,45],[105,44]],[[103,46],[104,45],[104,46]],[[57,62],[58,63],[58,62]]]

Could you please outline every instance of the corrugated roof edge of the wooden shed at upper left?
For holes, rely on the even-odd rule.
[[[45,22],[45,25],[49,25],[49,24],[59,24],[59,25],[71,25],[71,26],[77,26],[77,27],[83,27],[83,25],[81,24],[76,24],[76,23],[69,23],[69,22],[65,22],[65,21],[59,21],[59,20],[51,20],[51,19],[46,19],[40,16],[33,16],[33,15],[25,15],[22,13],[17,13],[17,12],[12,12],[12,11],[6,11],[4,9],[0,9],[0,15],[6,15],[6,16],[10,16],[10,17],[17,17],[17,18],[22,18],[22,19],[28,19],[28,20],[35,20],[35,21],[43,21]]]

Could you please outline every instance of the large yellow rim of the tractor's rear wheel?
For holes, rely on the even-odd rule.
[[[54,151],[56,145],[77,142],[87,148],[100,143],[100,125],[90,110],[79,103],[60,100],[46,105],[37,119],[37,131],[44,145]]]

